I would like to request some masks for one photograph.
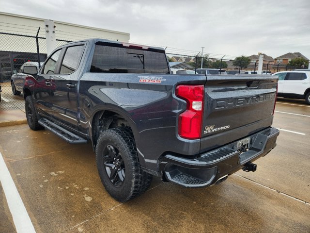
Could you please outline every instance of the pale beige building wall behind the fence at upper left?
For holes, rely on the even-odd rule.
[[[17,33],[35,36],[40,27],[40,37],[45,36],[45,25],[43,18],[27,17],[15,15],[10,13],[0,12],[0,32]],[[65,23],[54,21],[55,34],[57,39],[77,41],[87,38],[102,38],[109,40],[118,40],[128,42],[130,39],[129,33],[117,32],[112,30],[87,27],[72,23]],[[0,34],[0,51],[19,51],[19,52],[36,52],[36,45],[34,38],[20,37],[20,36],[4,36]],[[5,41],[16,41],[17,43],[4,43]],[[33,45],[34,46],[31,46]],[[59,42],[57,46],[65,44],[66,42]],[[40,53],[46,53],[45,41],[39,40]]]

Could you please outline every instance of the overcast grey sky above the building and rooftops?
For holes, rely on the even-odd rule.
[[[130,33],[130,41],[211,54],[301,52],[310,0],[0,0],[0,11]]]

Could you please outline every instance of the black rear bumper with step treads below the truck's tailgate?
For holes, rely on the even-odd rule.
[[[279,130],[271,127],[193,158],[167,154],[160,169],[172,183],[185,187],[210,186],[269,153],[276,147],[278,135]],[[246,141],[248,149],[241,152],[240,144]]]

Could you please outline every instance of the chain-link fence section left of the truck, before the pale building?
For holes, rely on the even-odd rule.
[[[47,58],[46,38],[15,33],[0,33],[0,110],[25,109],[23,93],[16,91],[12,76],[22,77],[21,67],[26,62],[39,66]],[[56,46],[67,40],[56,39]],[[23,83],[18,83],[19,86]]]

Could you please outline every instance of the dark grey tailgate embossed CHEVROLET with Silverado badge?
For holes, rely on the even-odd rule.
[[[277,83],[271,75],[207,76],[201,152],[271,126]]]

